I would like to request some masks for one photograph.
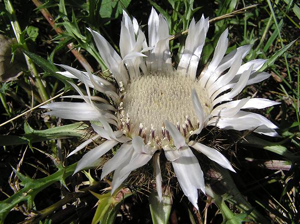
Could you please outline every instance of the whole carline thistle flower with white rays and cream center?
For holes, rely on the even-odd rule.
[[[172,67],[169,30],[165,17],[152,8],[148,19],[148,42],[135,18],[123,11],[119,49],[120,55],[96,31],[89,29],[99,54],[110,70],[115,83],[100,78],[85,68],[79,71],[67,65],[60,74],[78,79],[85,90],[70,83],[79,95],[68,96],[84,102],[55,102],[43,106],[46,114],[64,119],[92,122],[96,135],[83,142],[68,156],[96,139],[106,139],[79,160],[75,172],[95,165],[98,159],[120,144],[115,155],[103,168],[101,179],[113,173],[113,193],[130,172],[147,164],[151,158],[158,197],[162,198],[162,177],[159,154],[164,152],[171,162],[185,196],[197,207],[197,190],[204,191],[203,172],[192,150],[196,150],[220,166],[234,172],[229,161],[217,150],[190,136],[206,126],[221,129],[253,130],[276,136],[277,127],[263,116],[242,109],[261,109],[277,104],[261,98],[232,100],[246,86],[269,77],[258,72],[265,60],[242,64],[250,46],[244,45],[225,55],[228,30],[219,37],[213,57],[197,75],[197,67],[208,18],[191,20],[185,47],[177,68]],[[225,56],[224,56],[225,55]],[[92,88],[101,96],[92,96]],[[110,100],[107,100],[110,99]]]

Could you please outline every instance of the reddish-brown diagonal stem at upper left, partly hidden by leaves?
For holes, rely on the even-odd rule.
[[[32,0],[32,2],[35,4],[36,7],[39,7],[41,5],[39,0]],[[50,12],[46,8],[40,8],[39,11],[42,13],[42,15],[49,22],[49,24],[52,26],[52,28],[55,30],[55,32],[57,34],[63,33],[63,30],[60,27],[55,26],[53,16],[50,14]],[[86,59],[82,56],[82,54],[78,50],[74,49],[73,43],[67,44],[67,47],[71,50],[72,54],[76,57],[76,59],[80,62],[80,64],[83,67],[88,66],[89,70],[91,72],[93,72],[92,67],[89,65],[89,63],[86,61]]]

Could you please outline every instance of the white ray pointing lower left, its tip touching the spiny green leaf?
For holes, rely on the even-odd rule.
[[[97,161],[101,156],[103,156],[110,149],[112,149],[117,143],[118,141],[115,140],[107,140],[101,145],[85,153],[84,156],[77,163],[74,174],[80,170],[90,167],[90,164],[93,164],[95,161]]]

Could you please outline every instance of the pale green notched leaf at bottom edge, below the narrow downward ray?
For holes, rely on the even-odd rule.
[[[161,202],[159,202],[157,192],[153,191],[150,195],[149,202],[153,224],[167,224],[172,207],[170,195],[164,193]]]

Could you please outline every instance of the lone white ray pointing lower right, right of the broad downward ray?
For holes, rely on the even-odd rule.
[[[236,173],[234,169],[232,168],[230,162],[224,157],[219,151],[212,149],[208,146],[205,146],[201,143],[190,141],[188,143],[190,147],[193,149],[199,151],[200,153],[203,153],[205,156],[207,156],[210,160],[216,162],[221,167],[224,167],[228,170],[231,170],[232,172]]]

